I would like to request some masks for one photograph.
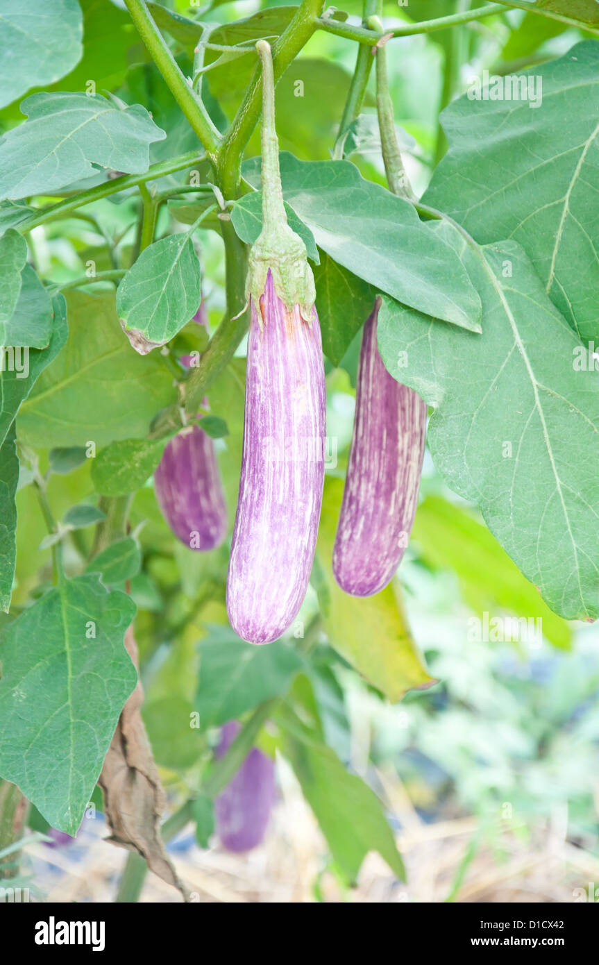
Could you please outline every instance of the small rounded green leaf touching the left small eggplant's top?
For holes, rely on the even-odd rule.
[[[92,482],[101,496],[126,496],[150,479],[168,439],[122,439],[100,450]]]

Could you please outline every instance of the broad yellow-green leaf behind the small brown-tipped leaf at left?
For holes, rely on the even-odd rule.
[[[23,442],[99,447],[141,437],[155,413],[176,400],[160,359],[131,351],[114,302],[114,294],[68,292],[68,343],[21,408]]]

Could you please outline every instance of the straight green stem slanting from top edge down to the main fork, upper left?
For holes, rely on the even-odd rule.
[[[221,135],[212,123],[201,98],[195,95],[178,68],[173,54],[151,17],[146,0],[124,0],[124,3],[151,59],[160,70],[198,140],[204,145],[208,158],[215,164]]]

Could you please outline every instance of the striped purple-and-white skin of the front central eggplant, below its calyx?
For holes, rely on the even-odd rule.
[[[277,640],[302,605],[324,483],[326,390],[320,325],[286,309],[268,271],[252,304],[239,500],[227,611],[251,644]]]

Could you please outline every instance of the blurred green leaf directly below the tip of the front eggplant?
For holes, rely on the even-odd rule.
[[[203,731],[285,694],[303,666],[301,655],[285,640],[254,647],[239,640],[230,629],[209,629],[200,643],[200,683],[195,703]]]

